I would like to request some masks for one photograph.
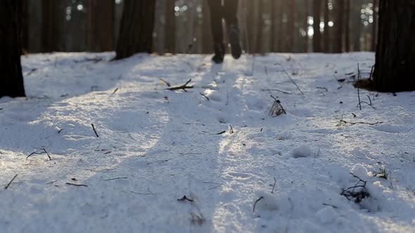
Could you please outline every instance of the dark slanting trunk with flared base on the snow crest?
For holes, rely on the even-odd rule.
[[[155,1],[125,0],[115,59],[134,53],[151,53],[154,16]]]

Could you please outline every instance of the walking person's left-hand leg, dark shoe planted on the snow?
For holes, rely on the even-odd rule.
[[[224,60],[225,46],[222,28],[223,7],[222,0],[209,0],[210,24],[213,34],[213,46],[215,55],[212,60],[216,63],[222,63]]]

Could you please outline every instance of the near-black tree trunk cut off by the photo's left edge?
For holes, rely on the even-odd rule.
[[[0,98],[25,96],[21,46],[21,0],[0,1]]]

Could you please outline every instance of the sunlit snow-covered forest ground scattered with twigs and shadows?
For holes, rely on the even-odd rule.
[[[415,232],[415,93],[360,91],[359,110],[373,53],[111,58],[22,58],[0,232]]]

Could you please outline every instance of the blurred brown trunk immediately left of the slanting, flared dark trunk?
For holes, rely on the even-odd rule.
[[[87,1],[87,47],[94,52],[114,50],[114,1]]]

